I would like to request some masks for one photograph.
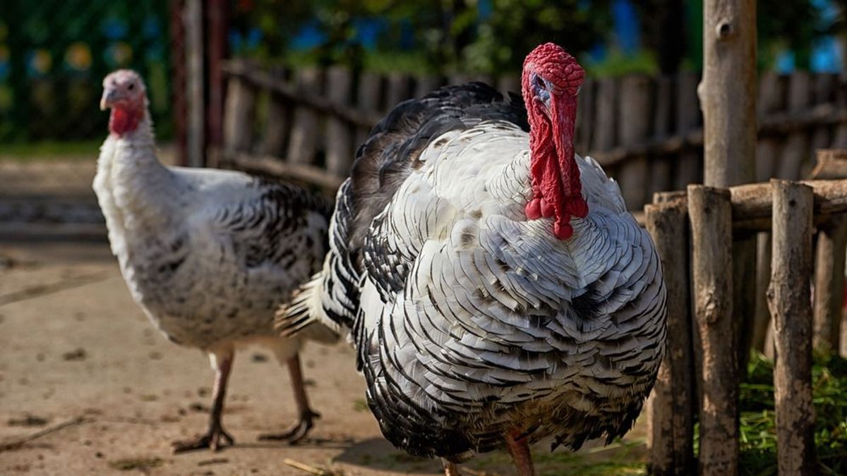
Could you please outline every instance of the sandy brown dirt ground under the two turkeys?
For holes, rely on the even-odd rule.
[[[323,414],[305,443],[257,441],[295,411],[285,369],[255,348],[236,356],[224,410],[235,446],[173,455],[172,440],[205,429],[206,357],[152,328],[104,241],[0,242],[0,474],[307,474],[286,458],[348,476],[440,472],[380,436],[344,343],[308,346],[303,362]],[[640,441],[576,455],[540,446],[535,459],[540,474],[642,473]],[[501,453],[465,468],[513,473]]]

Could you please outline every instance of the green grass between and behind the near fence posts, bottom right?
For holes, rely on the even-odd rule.
[[[773,362],[750,358],[740,388],[741,473],[777,473],[777,435],[773,403]],[[847,474],[847,360],[816,356],[812,391],[817,426],[815,446],[822,474]]]

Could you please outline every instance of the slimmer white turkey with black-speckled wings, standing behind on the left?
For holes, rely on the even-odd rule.
[[[331,342],[318,324],[303,335],[274,332],[274,310],[320,268],[331,206],[294,185],[240,172],[166,167],[156,157],[147,93],[134,71],[103,80],[109,136],[94,191],[112,252],[133,298],[169,340],[208,353],[215,371],[206,434],[174,451],[216,450],[233,439],[221,426],[235,348],[267,346],[288,366],[299,421],[268,438],[301,439],[318,414],[308,405],[298,352]]]

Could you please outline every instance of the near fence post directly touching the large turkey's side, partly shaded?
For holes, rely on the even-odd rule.
[[[660,194],[645,206],[647,230],[667,285],[667,348],[650,397],[650,473],[694,470],[694,360],[691,346],[688,213],[684,196]],[[668,201],[669,200],[669,201]]]

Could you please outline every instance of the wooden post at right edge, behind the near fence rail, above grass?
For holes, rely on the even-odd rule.
[[[838,354],[841,346],[841,304],[844,300],[844,252],[847,216],[836,215],[817,234],[813,346]]]

